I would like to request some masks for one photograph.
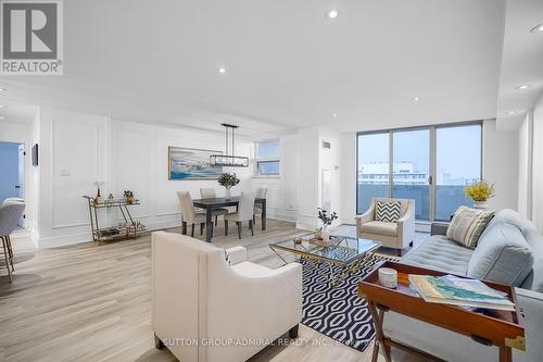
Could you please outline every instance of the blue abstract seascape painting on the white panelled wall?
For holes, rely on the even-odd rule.
[[[217,179],[222,166],[211,166],[210,155],[223,154],[220,151],[194,148],[168,147],[169,179]]]

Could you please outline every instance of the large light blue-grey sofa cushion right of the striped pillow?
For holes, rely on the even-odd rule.
[[[520,286],[532,265],[532,251],[518,227],[501,223],[479,240],[469,261],[467,275]]]

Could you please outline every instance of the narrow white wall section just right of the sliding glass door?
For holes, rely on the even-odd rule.
[[[483,122],[483,178],[495,185],[495,197],[489,200],[495,210],[518,207],[518,130],[501,130],[495,120]]]

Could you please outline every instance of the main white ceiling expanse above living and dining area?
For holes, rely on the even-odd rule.
[[[330,9],[338,18],[325,18]],[[261,138],[493,117],[504,9],[503,0],[70,0],[64,76],[2,77],[0,87],[11,100],[137,122],[219,129],[230,120]]]

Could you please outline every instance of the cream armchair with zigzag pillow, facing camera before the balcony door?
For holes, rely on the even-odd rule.
[[[377,201],[399,201],[400,219],[395,223],[376,220]],[[356,235],[359,238],[380,241],[383,247],[396,249],[401,254],[415,240],[415,200],[375,198],[369,209],[356,216]]]

